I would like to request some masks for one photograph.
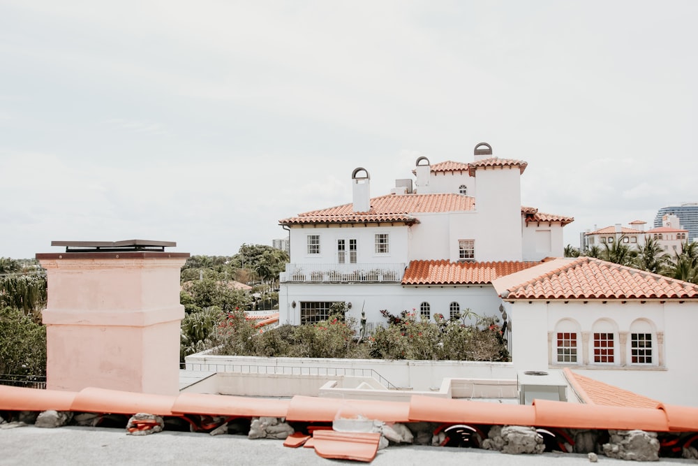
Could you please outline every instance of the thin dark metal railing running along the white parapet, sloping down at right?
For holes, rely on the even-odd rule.
[[[326,377],[372,377],[389,390],[400,390],[388,379],[378,374],[376,370],[362,367],[309,367],[290,365],[258,365],[258,364],[202,364],[183,363],[184,370],[200,372],[238,372],[240,374],[269,374],[269,375],[322,375]],[[180,366],[181,367],[181,366]]]

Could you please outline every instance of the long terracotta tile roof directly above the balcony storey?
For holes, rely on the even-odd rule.
[[[417,223],[410,214],[419,212],[457,212],[475,209],[475,198],[462,194],[387,194],[371,199],[369,212],[353,212],[351,203],[312,210],[298,217],[279,220],[281,225],[338,224],[354,222],[405,221]]]

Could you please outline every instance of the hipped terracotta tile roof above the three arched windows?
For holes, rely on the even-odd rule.
[[[698,285],[611,262],[580,257],[509,286],[507,299],[698,299]]]

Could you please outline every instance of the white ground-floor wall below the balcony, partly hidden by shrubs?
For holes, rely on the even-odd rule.
[[[290,303],[295,301],[296,307]],[[346,301],[352,304],[347,316],[359,321],[362,309],[366,322],[387,323],[380,310],[399,315],[416,312],[422,302],[429,303],[431,316],[443,314],[447,319],[450,304],[459,303],[461,312],[470,308],[480,316],[499,316],[502,303],[491,285],[473,286],[406,286],[401,284],[281,284],[279,289],[279,323],[300,323],[301,301]]]

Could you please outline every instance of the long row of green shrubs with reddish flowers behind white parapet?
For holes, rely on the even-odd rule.
[[[355,319],[343,321],[334,314],[325,321],[304,326],[280,326],[260,332],[233,312],[219,324],[218,354],[238,356],[286,356],[297,358],[380,358],[455,361],[509,361],[507,342],[494,317],[478,318],[473,325],[447,321],[435,314],[435,322],[415,312],[393,316],[372,335],[358,341]]]

